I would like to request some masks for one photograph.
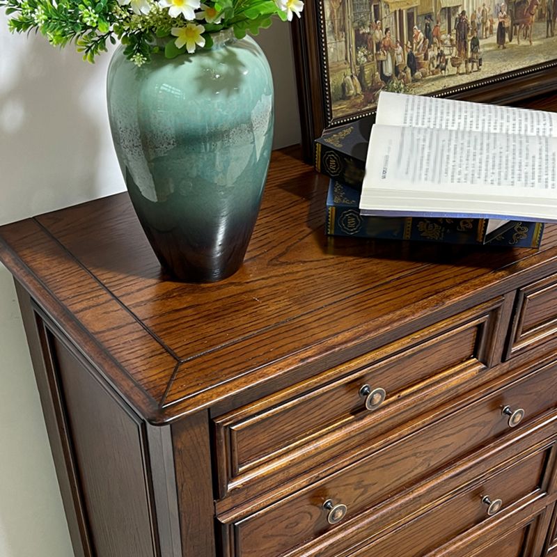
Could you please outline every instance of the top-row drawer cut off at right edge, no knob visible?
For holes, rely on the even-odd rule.
[[[557,276],[518,291],[507,358],[538,347],[557,335]]]

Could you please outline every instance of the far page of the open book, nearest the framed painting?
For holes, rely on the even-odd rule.
[[[557,113],[382,91],[375,123],[557,137]]]

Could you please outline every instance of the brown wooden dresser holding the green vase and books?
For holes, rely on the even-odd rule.
[[[557,226],[327,238],[326,189],[276,152],[212,285],[125,194],[0,228],[76,556],[557,556]]]

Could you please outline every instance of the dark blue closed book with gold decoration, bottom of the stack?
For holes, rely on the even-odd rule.
[[[364,217],[360,195],[338,180],[329,181],[327,235],[527,248],[539,247],[542,240],[543,223],[510,221],[489,234],[489,219]]]

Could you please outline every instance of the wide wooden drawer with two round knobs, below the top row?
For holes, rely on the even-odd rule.
[[[347,506],[347,519],[410,488],[510,431],[504,407],[521,407],[527,422],[557,405],[557,363],[480,398],[324,480],[244,519],[234,519],[236,554],[285,554],[327,532],[324,501]],[[519,434],[524,423],[510,435]],[[538,481],[538,477],[536,480]],[[226,522],[226,516],[221,517]]]

